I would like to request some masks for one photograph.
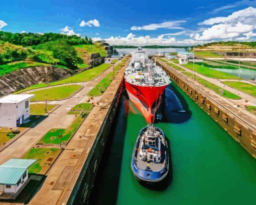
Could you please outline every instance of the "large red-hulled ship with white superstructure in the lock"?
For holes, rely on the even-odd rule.
[[[162,94],[171,83],[166,72],[149,59],[147,50],[133,51],[132,59],[124,72],[125,88],[130,100],[148,123],[161,104]]]

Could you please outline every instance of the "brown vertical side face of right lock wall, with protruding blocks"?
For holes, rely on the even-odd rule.
[[[157,65],[160,65],[159,62],[157,62]],[[235,141],[256,158],[256,133],[253,128],[246,125],[245,122],[241,121],[223,106],[215,102],[214,99],[192,86],[175,71],[165,68],[163,64],[161,66],[169,74],[172,82],[177,84],[198,106],[213,118],[216,123],[227,131]]]

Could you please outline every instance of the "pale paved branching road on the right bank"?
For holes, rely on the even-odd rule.
[[[169,61],[169,60],[168,60]],[[172,64],[174,64],[174,65],[176,65],[176,66],[178,66],[178,67],[180,67],[180,68],[182,68],[182,69],[184,69],[186,72],[189,72],[189,73],[193,73],[193,71],[191,71],[190,69],[188,69],[188,68],[186,68],[186,67],[184,67],[184,66],[181,66],[181,65],[179,65],[179,64],[177,64],[177,63],[174,63],[174,62],[172,62],[172,61],[169,61],[170,63],[172,63]],[[179,71],[178,71],[179,72]],[[243,93],[243,92],[241,92],[241,91],[238,91],[238,90],[236,90],[236,89],[234,89],[234,88],[231,88],[231,87],[229,87],[229,86],[227,86],[227,85],[224,85],[222,82],[223,81],[229,81],[229,80],[222,80],[222,79],[214,79],[214,78],[209,78],[209,77],[206,77],[206,76],[204,76],[204,75],[202,75],[202,74],[200,74],[200,73],[197,73],[197,72],[195,72],[195,76],[198,76],[198,77],[200,77],[200,78],[202,78],[202,79],[204,79],[204,80],[207,80],[207,81],[209,81],[209,82],[211,82],[212,84],[215,84],[215,85],[217,85],[217,86],[219,86],[219,87],[221,87],[221,88],[223,88],[223,89],[225,89],[225,90],[227,90],[227,91],[229,91],[229,92],[231,92],[231,93],[234,93],[234,94],[236,94],[236,95],[239,95],[242,99],[241,100],[232,100],[232,99],[228,99],[228,100],[230,100],[230,101],[232,101],[233,103],[235,103],[235,104],[243,104],[244,105],[244,100],[248,100],[249,101],[249,104],[251,104],[251,105],[256,105],[256,98],[255,97],[253,97],[253,96],[251,96],[251,95],[248,95],[248,94],[246,94],[246,93]],[[239,82],[239,80],[231,80],[231,81],[237,81],[237,82]],[[246,82],[246,83],[249,83],[248,81],[245,81],[245,80],[240,80],[240,82]],[[227,99],[227,98],[225,98],[225,99]]]

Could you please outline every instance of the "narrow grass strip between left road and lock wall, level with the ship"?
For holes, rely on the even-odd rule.
[[[118,72],[121,69],[121,67],[124,65],[126,59],[123,59],[121,63],[119,63],[117,66],[114,67],[114,76],[117,75]],[[88,93],[89,96],[100,96],[102,95],[105,90],[108,88],[110,83],[113,80],[113,72],[110,72],[104,79],[102,79],[93,89],[90,90]]]

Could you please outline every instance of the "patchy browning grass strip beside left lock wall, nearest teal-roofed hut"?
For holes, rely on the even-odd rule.
[[[57,144],[61,143],[65,144],[73,136],[85,116],[90,112],[91,108],[92,104],[90,103],[81,103],[76,105],[69,112],[69,114],[76,115],[76,118],[68,128],[51,129],[37,143],[47,144],[49,147],[56,147]],[[82,110],[83,115],[80,115]],[[23,156],[23,158],[38,160],[29,168],[29,173],[45,174],[45,172],[49,169],[48,163],[52,163],[59,153],[59,148],[33,147]]]

